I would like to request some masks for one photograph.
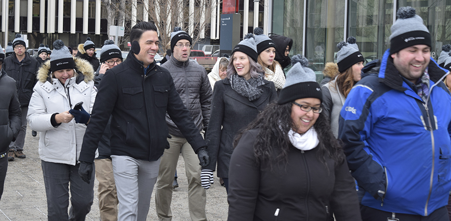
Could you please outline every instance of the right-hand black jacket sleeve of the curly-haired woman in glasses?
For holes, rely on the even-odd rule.
[[[335,184],[330,204],[337,221],[362,220],[355,182],[346,160],[335,168]]]

